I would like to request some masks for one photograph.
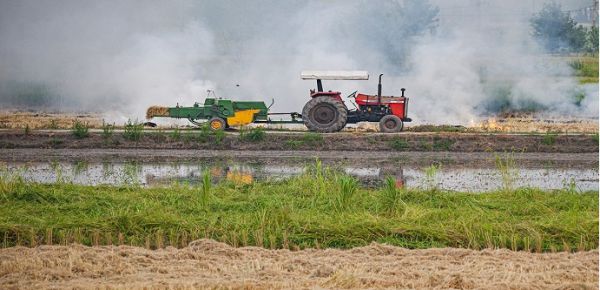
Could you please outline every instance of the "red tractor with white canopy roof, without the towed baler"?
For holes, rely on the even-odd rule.
[[[302,120],[311,131],[329,133],[342,130],[346,124],[358,122],[379,122],[381,132],[400,132],[404,122],[410,122],[407,117],[408,98],[402,95],[382,96],[381,77],[377,95],[357,93],[350,94],[353,98],[355,109],[348,109],[340,92],[323,91],[322,80],[368,80],[369,74],[365,71],[305,71],[302,79],[317,80],[317,91],[310,90],[311,100],[302,109]]]

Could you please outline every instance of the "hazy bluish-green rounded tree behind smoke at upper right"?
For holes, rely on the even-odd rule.
[[[587,31],[562,11],[556,2],[546,3],[531,18],[534,37],[552,53],[581,52],[586,45]]]

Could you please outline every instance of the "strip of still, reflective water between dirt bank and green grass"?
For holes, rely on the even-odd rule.
[[[77,184],[169,186],[199,184],[203,173],[209,171],[213,181],[230,180],[277,181],[300,175],[307,170],[303,164],[257,164],[251,162],[222,163],[140,163],[140,162],[32,162],[8,163],[7,172],[18,174],[26,180],[52,183],[57,181]],[[383,184],[386,177],[408,188],[438,187],[456,191],[489,191],[506,184],[514,187],[542,189],[571,188],[598,190],[596,168],[523,168],[500,171],[483,167],[378,167],[376,165],[333,165],[333,170],[356,177],[366,187]]]

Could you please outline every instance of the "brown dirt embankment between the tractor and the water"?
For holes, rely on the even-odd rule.
[[[108,138],[90,133],[77,139],[68,131],[1,131],[0,148],[137,148],[204,150],[313,150],[313,151],[451,151],[451,152],[598,152],[597,135],[511,135],[481,133],[266,133],[260,140],[238,134],[203,136],[199,131],[149,132],[128,140],[122,132]]]

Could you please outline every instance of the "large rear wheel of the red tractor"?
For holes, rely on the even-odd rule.
[[[308,101],[302,109],[302,121],[311,130],[330,133],[342,130],[348,120],[348,110],[344,104],[332,97],[316,97]]]

